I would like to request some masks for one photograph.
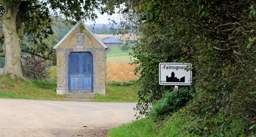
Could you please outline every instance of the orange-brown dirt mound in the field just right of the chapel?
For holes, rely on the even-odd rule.
[[[129,81],[132,79],[138,79],[138,76],[134,75],[133,70],[138,64],[130,65],[128,63],[116,63],[109,62],[107,64],[107,81]]]

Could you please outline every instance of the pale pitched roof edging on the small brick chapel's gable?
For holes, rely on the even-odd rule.
[[[75,24],[73,26],[73,28],[71,30],[68,31],[68,33],[53,47],[53,49],[56,49],[58,48],[58,46],[60,45],[60,43],[62,43],[69,35],[70,33],[72,33],[73,30],[75,30],[76,27],[78,27],[79,24],[83,24],[85,29],[105,48],[107,49],[107,46],[101,41],[98,39],[97,36],[95,36],[95,34],[85,25],[85,23],[83,21],[79,21],[77,24]]]

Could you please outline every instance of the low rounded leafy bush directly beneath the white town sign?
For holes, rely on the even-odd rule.
[[[150,116],[154,120],[162,119],[183,107],[189,100],[190,90],[187,88],[166,91],[163,97],[154,104]]]

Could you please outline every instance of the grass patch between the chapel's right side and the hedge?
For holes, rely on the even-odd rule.
[[[110,82],[105,87],[105,95],[97,94],[95,101],[97,102],[137,102],[137,91],[139,86],[134,81],[125,82],[120,86],[122,82]]]

